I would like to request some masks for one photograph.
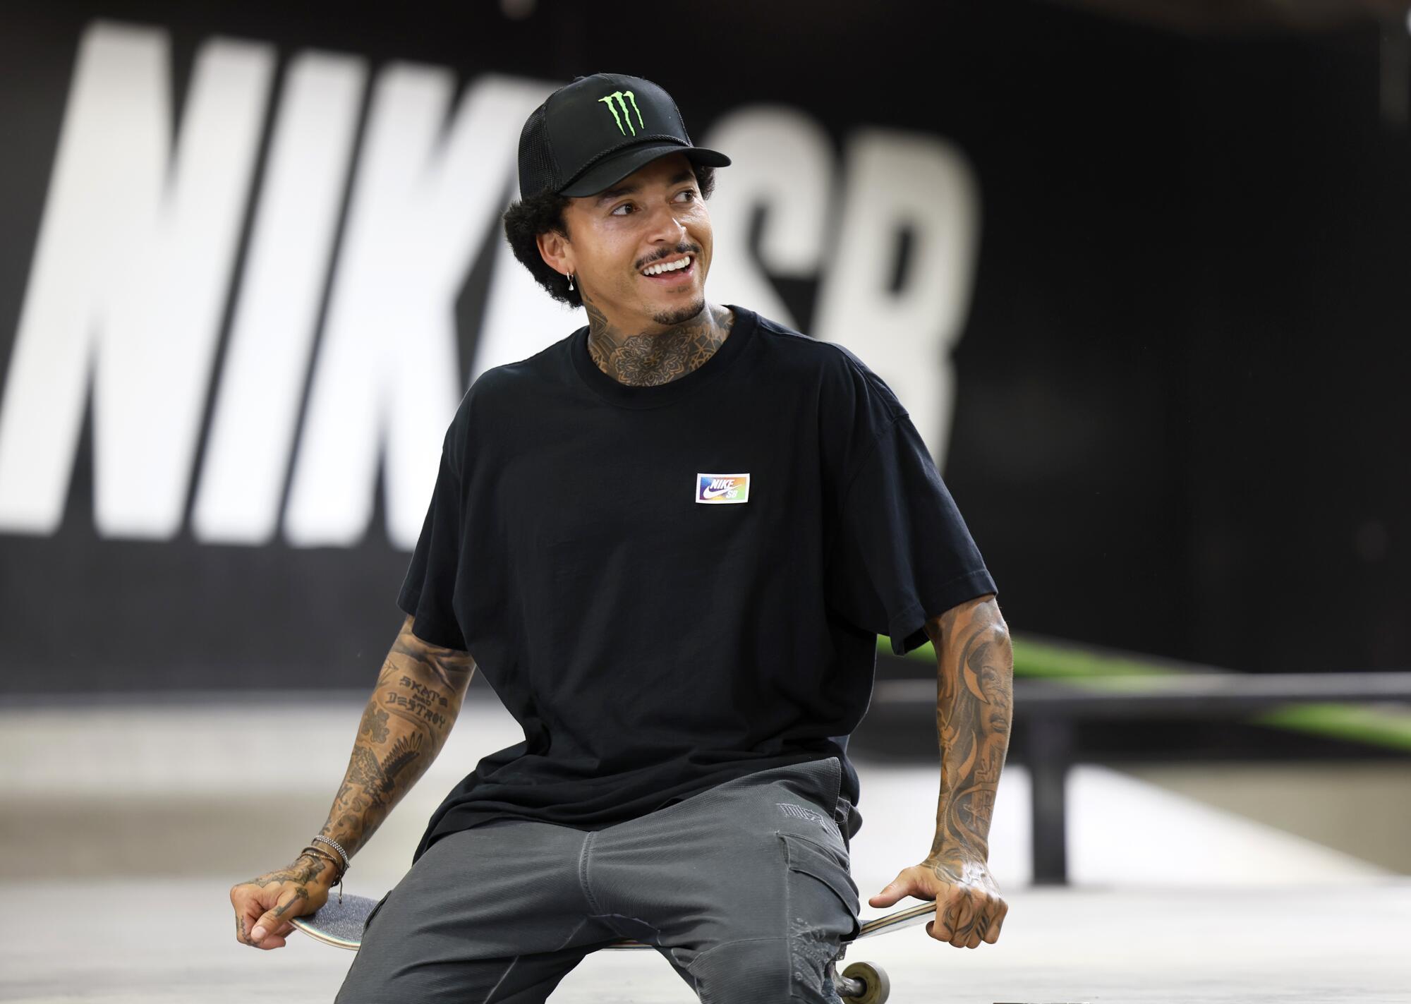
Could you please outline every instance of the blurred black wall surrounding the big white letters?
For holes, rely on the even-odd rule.
[[[0,11],[0,372],[75,47],[212,34],[665,83],[697,135],[745,102],[933,131],[982,193],[945,479],[1016,632],[1252,671],[1405,668],[1411,135],[1377,37],[1192,39],[1038,3]],[[722,183],[725,180],[722,179]],[[459,322],[474,351],[484,268]],[[806,330],[814,283],[779,288]],[[100,540],[87,439],[62,530],[0,536],[0,691],[363,685],[408,554]]]

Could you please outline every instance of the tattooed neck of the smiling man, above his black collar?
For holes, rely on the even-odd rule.
[[[584,296],[588,312],[588,355],[598,369],[629,386],[667,384],[697,369],[724,344],[735,323],[725,307],[707,303],[687,322],[655,334],[631,333],[614,327]]]

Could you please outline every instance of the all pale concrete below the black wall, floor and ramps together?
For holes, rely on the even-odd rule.
[[[298,933],[275,952],[238,945],[227,890],[316,832],[361,702],[270,706],[0,709],[0,1001],[333,1000],[353,956]],[[498,705],[467,704],[349,891],[381,895],[444,791],[519,739]],[[871,917],[882,911],[866,898],[930,846],[938,778],[862,756],[858,770],[852,864]],[[1081,767],[1068,788],[1074,883],[1033,887],[1027,784],[1005,769],[991,863],[1010,912],[996,945],[955,949],[916,926],[849,949],[848,962],[888,969],[895,1004],[1411,1001],[1411,878]],[[550,1000],[696,997],[655,952],[598,952]]]

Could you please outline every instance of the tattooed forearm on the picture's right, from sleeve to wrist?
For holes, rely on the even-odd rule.
[[[930,860],[959,881],[967,862],[988,860],[989,824],[1009,750],[1015,661],[993,598],[962,604],[926,625],[937,653],[935,730],[941,798]]]

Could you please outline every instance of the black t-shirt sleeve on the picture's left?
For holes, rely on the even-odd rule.
[[[396,605],[413,618],[412,633],[446,649],[466,649],[454,612],[456,574],[460,567],[461,492],[452,455],[456,437],[447,431],[436,486],[416,539]]]

